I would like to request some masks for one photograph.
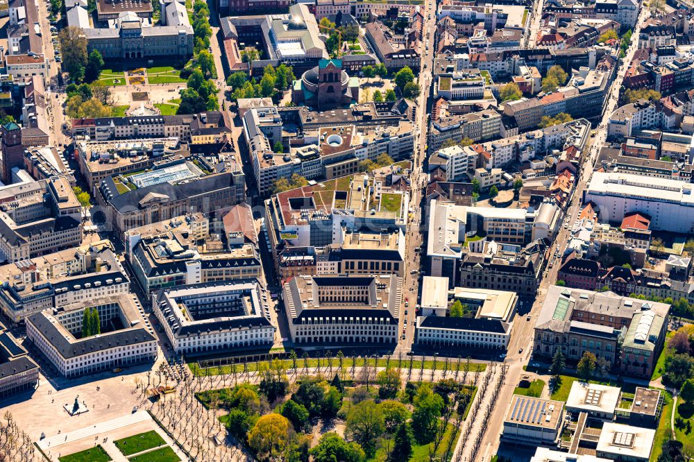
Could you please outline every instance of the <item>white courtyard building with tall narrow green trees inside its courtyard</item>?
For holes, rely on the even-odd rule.
[[[85,309],[99,313],[101,333],[82,336]],[[155,361],[157,339],[133,295],[88,300],[73,309],[45,309],[26,319],[26,335],[65,377]]]

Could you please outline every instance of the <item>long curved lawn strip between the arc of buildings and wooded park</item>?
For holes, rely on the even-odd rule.
[[[369,364],[373,365],[374,359],[369,359]],[[307,359],[308,367],[309,368],[316,368],[318,366],[318,359],[316,358],[309,358]],[[464,370],[465,369],[465,363],[466,361],[460,361],[460,368],[459,370]],[[260,363],[254,362],[254,363],[246,363],[248,366],[248,371],[250,372],[255,372],[257,371],[258,365],[260,364],[261,368],[267,368],[268,362],[267,361],[261,361]],[[282,360],[282,365],[287,368],[288,372],[291,372],[292,369],[292,363],[291,359],[283,359]],[[407,370],[409,367],[409,359],[403,358],[403,365],[402,368],[403,370]],[[448,364],[448,370],[455,371],[457,365],[457,360],[452,359],[449,364]],[[244,372],[244,365],[243,363],[239,364],[234,364],[236,372],[237,373],[242,373]],[[356,361],[356,366],[357,367],[362,367],[364,366],[364,358],[357,358]],[[387,366],[387,360],[386,359],[378,359],[378,367],[384,368]],[[393,359],[391,358],[390,360],[390,366],[397,368],[398,367],[398,359]],[[418,370],[421,369],[422,362],[421,359],[415,358],[414,361],[412,362],[412,370]],[[205,373],[204,369],[201,369],[198,367],[198,363],[188,363],[188,367],[192,371],[194,375],[199,375],[202,377],[205,377],[205,375],[220,375],[220,374],[230,374],[232,373],[232,365],[228,366],[210,366],[207,368],[209,371],[208,373]],[[324,368],[328,367],[328,361],[326,359],[321,359],[321,370]],[[345,370],[348,370],[349,368],[352,367],[352,359],[351,358],[345,358],[342,361],[342,368]],[[304,368],[304,359],[299,358],[296,360],[296,368],[297,370],[301,370]],[[424,361],[424,368],[427,370],[431,370],[434,368],[434,361],[428,360]],[[437,360],[437,370],[443,370],[443,359]],[[339,362],[337,358],[333,357],[332,359],[332,370],[333,373],[337,372],[339,370]],[[470,363],[470,371],[471,372],[483,372],[486,370],[486,363]]]

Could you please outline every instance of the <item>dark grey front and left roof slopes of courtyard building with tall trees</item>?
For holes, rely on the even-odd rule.
[[[65,339],[65,336],[58,331],[56,324],[51,323],[51,320],[43,313],[34,314],[27,319],[46,337],[51,345],[53,345],[64,358],[74,358],[82,354],[108,350],[109,348],[124,345],[139,345],[140,343],[154,340],[152,334],[147,332],[143,325],[142,327],[128,328],[127,330],[91,336],[87,337],[87,339],[80,339],[70,343]]]

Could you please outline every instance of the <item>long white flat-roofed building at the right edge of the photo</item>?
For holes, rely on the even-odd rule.
[[[584,192],[584,203],[600,208],[602,219],[621,223],[626,214],[651,217],[651,230],[694,232],[694,185],[666,178],[631,173],[593,173]]]

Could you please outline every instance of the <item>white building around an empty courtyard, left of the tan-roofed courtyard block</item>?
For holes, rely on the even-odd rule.
[[[152,307],[178,354],[272,345],[267,294],[257,280],[193,284],[152,294]]]

